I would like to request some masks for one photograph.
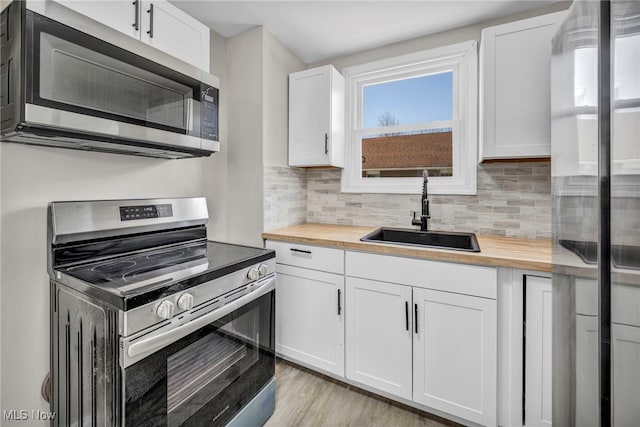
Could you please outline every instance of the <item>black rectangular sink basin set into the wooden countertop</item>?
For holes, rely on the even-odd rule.
[[[474,233],[419,231],[381,227],[360,239],[363,242],[395,243],[455,251],[480,252]]]

